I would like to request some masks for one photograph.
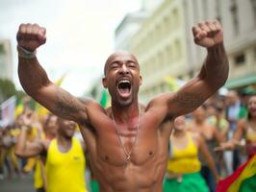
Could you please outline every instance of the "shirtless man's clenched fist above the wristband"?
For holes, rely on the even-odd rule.
[[[35,51],[46,41],[46,29],[38,24],[21,24],[16,38],[17,44],[28,51]]]

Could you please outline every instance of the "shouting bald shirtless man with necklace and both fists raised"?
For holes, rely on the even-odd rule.
[[[218,21],[203,21],[192,28],[194,42],[207,50],[198,76],[175,93],[153,98],[146,108],[138,101],[140,65],[127,52],[115,52],[104,67],[102,83],[111,94],[111,108],[101,108],[90,99],[81,101],[53,84],[35,52],[45,43],[45,32],[38,24],[19,26],[18,74],[24,90],[53,113],[79,124],[101,191],[162,191],[169,123],[199,107],[228,76]]]

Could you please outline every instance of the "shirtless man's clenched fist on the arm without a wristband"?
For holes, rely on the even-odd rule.
[[[193,40],[196,44],[210,48],[223,42],[223,32],[217,20],[202,21],[192,27]]]

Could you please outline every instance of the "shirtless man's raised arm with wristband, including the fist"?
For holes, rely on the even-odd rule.
[[[45,28],[21,24],[17,38],[18,76],[24,90],[56,115],[73,121],[87,119],[86,105],[53,84],[36,58],[37,48],[46,41]]]

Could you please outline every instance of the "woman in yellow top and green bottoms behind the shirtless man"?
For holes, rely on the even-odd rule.
[[[177,117],[173,125],[174,132],[169,139],[169,159],[164,192],[209,191],[205,180],[200,175],[201,162],[198,154],[201,153],[205,157],[217,181],[218,172],[204,140],[200,134],[188,130],[184,116]]]

